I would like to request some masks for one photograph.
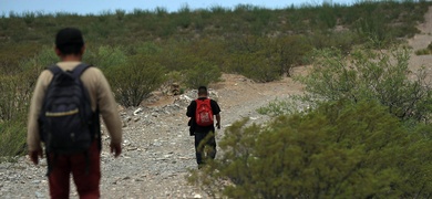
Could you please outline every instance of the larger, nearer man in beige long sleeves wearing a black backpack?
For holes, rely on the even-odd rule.
[[[38,165],[44,144],[51,198],[69,198],[71,174],[80,198],[100,198],[99,115],[111,137],[111,153],[119,157],[122,126],[116,103],[103,73],[81,63],[85,45],[80,30],[60,30],[54,50],[61,62],[42,71],[31,98],[29,156]],[[74,108],[69,111],[69,107]]]

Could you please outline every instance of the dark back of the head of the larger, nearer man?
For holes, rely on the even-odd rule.
[[[55,35],[55,46],[63,54],[80,54],[84,46],[84,39],[79,29],[65,28]]]

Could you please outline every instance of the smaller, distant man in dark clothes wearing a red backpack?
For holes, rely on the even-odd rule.
[[[207,156],[214,159],[216,157],[216,139],[214,115],[216,116],[216,127],[220,129],[220,107],[208,98],[206,86],[199,86],[198,98],[192,101],[187,106],[186,115],[191,117],[191,134],[195,136],[195,151],[198,168],[205,164],[203,159],[204,148],[208,147]]]

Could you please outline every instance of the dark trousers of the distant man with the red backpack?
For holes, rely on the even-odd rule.
[[[215,133],[213,132],[195,133],[195,153],[196,153],[196,163],[198,165],[205,164],[206,158],[215,159],[216,157]]]

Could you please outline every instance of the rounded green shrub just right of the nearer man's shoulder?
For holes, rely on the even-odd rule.
[[[107,78],[116,101],[124,106],[138,106],[165,81],[165,69],[147,55],[131,56],[125,64],[107,70]]]

